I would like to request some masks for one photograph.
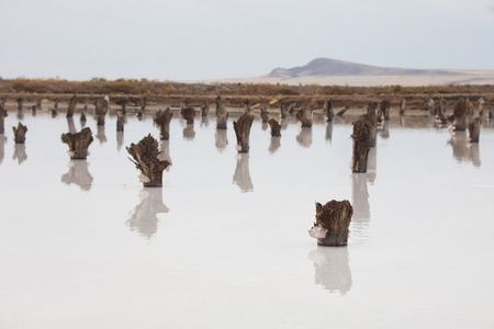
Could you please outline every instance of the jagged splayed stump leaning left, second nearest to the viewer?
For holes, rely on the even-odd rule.
[[[149,134],[139,143],[131,144],[131,146],[127,147],[127,151],[134,160],[131,158],[128,159],[134,162],[138,170],[141,170],[139,178],[144,186],[161,186],[162,171],[171,163],[158,158],[160,154],[158,140]]]

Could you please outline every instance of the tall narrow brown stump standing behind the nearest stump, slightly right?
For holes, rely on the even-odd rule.
[[[352,158],[352,171],[353,172],[367,172],[367,159],[370,150],[370,138],[372,132],[372,124],[369,122],[366,115],[360,116],[358,121],[353,123],[353,158]]]

